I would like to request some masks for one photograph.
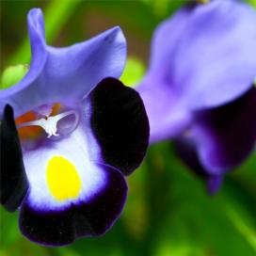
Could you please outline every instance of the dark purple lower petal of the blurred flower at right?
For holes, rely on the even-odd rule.
[[[256,88],[230,104],[197,112],[192,136],[200,162],[213,174],[240,165],[256,139]]]

